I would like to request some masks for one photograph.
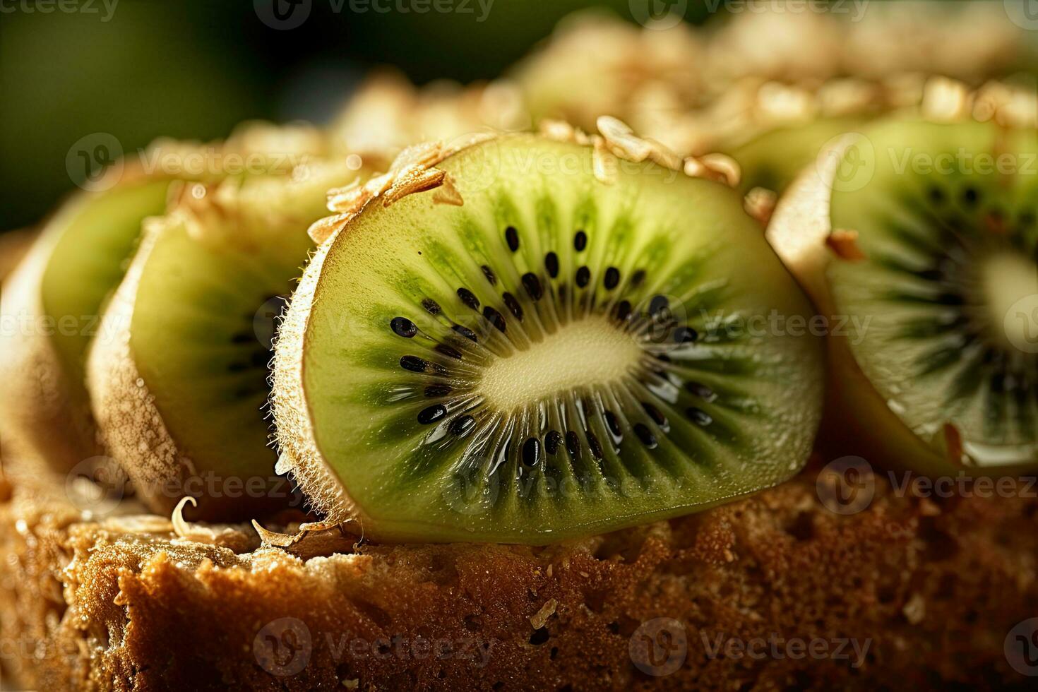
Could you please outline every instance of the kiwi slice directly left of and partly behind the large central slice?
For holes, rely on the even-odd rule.
[[[88,385],[106,447],[154,510],[190,495],[191,518],[241,520],[292,497],[264,411],[274,320],[327,191],[357,176],[345,161],[313,162],[293,176],[195,183],[145,224]]]

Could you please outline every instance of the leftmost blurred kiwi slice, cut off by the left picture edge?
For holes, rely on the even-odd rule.
[[[83,383],[103,304],[133,253],[141,221],[165,209],[168,181],[137,179],[62,206],[11,275],[0,341],[0,417],[8,442],[66,470],[98,453]]]

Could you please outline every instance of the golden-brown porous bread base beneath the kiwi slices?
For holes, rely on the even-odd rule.
[[[1028,689],[1003,642],[1038,603],[1038,501],[898,497],[877,476],[870,507],[840,516],[819,503],[817,472],[548,548],[344,538],[306,561],[174,542],[155,517],[77,523],[19,481],[0,495],[0,619],[43,656],[3,665],[46,690]],[[657,617],[687,634],[660,677],[629,653]],[[859,668],[710,659],[703,641],[772,634],[872,641]],[[411,655],[419,638],[456,655]],[[257,658],[257,641],[288,658]],[[268,671],[300,655],[298,671]]]

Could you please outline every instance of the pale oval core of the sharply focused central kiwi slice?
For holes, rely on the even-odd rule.
[[[645,352],[604,317],[572,322],[554,334],[489,364],[479,390],[500,410],[535,404],[564,391],[616,382]]]

